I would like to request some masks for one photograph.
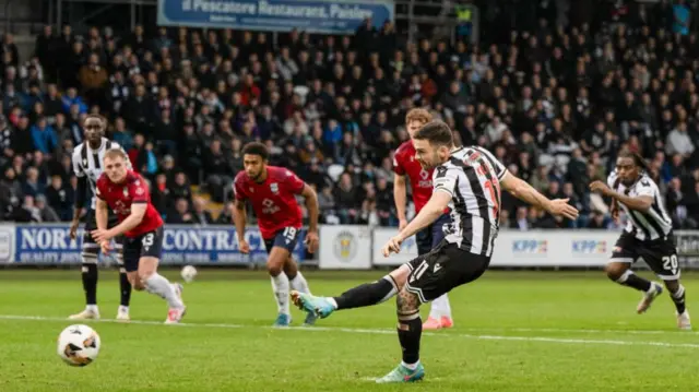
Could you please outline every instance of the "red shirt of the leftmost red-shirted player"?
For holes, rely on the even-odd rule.
[[[102,174],[97,179],[95,193],[97,198],[109,204],[119,222],[123,222],[131,214],[131,204],[147,203],[143,221],[125,233],[127,237],[138,237],[163,226],[161,214],[151,204],[149,187],[143,177],[137,173],[127,171],[127,179],[121,183],[114,183],[107,174]]]

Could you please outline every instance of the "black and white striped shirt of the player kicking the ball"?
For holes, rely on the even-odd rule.
[[[447,242],[481,256],[491,256],[500,221],[500,180],[505,166],[478,146],[460,147],[433,174],[435,191],[451,194],[452,224]]]

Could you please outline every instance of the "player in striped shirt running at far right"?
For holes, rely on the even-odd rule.
[[[628,223],[605,268],[607,276],[642,292],[643,298],[636,311],[639,314],[645,312],[655,297],[663,293],[663,286],[631,271],[631,264],[642,258],[670,290],[677,310],[677,326],[690,330],[685,286],[679,283],[672,219],[665,212],[657,185],[648,176],[643,158],[638,154],[621,152],[616,161],[616,170],[609,175],[607,183],[594,181],[590,189],[612,198],[612,215],[615,219],[618,219],[618,204],[628,216]]]

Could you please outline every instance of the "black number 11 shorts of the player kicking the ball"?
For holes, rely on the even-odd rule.
[[[459,249],[455,243],[442,241],[429,253],[407,263],[411,273],[405,287],[428,302],[452,288],[481,277],[490,264],[490,258]]]

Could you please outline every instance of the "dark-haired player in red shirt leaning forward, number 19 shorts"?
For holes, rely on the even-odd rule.
[[[262,143],[248,143],[242,149],[245,170],[234,181],[234,222],[240,251],[248,253],[250,246],[245,239],[245,205],[246,200],[249,200],[269,253],[266,270],[272,277],[272,290],[279,309],[274,326],[288,326],[292,322],[289,284],[297,292],[310,294],[308,283],[292,257],[301,229],[301,209],[296,202],[296,195],[300,194],[306,199],[309,223],[305,243],[311,252],[318,249],[318,195],[295,174],[282,167],[270,166],[268,161],[269,152]],[[308,313],[305,324],[312,325],[315,322],[316,314]]]

